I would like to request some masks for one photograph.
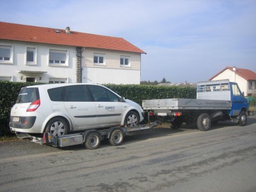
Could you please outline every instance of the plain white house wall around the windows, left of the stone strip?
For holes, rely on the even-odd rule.
[[[17,82],[26,81],[26,77],[35,77],[37,82],[49,82],[50,78],[67,78],[68,83],[76,82],[76,73],[74,70],[76,67],[76,49],[74,47],[10,41],[1,41],[0,44],[13,45],[13,64],[0,64],[0,76],[12,76],[12,81]],[[26,64],[27,47],[36,47],[36,65]],[[49,66],[49,49],[67,50],[68,66]],[[20,70],[42,71],[47,73],[22,74],[19,72]]]

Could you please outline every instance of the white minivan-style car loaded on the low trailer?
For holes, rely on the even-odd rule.
[[[143,121],[143,109],[99,84],[64,83],[26,86],[10,116],[16,133],[53,136],[114,126],[132,127]]]

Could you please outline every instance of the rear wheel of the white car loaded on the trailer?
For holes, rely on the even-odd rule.
[[[68,134],[68,124],[63,118],[52,118],[46,125],[45,132],[51,132],[52,136],[61,136],[63,134]]]

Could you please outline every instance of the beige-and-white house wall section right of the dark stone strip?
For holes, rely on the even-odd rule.
[[[102,63],[95,63],[94,56],[101,56]],[[127,63],[122,63],[123,59]],[[85,49],[82,58],[82,82],[140,84],[140,62],[140,53]]]

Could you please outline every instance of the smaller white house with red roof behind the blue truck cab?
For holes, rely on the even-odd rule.
[[[256,94],[256,73],[246,68],[226,67],[209,80],[229,79],[236,82],[245,96]]]

